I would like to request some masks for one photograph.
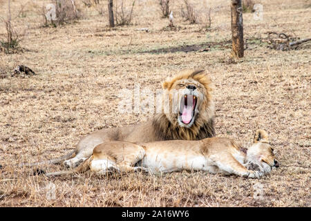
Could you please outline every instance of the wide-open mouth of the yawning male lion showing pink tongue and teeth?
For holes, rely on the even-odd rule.
[[[198,98],[194,95],[184,95],[180,99],[179,117],[183,124],[189,124],[194,118],[197,101]]]

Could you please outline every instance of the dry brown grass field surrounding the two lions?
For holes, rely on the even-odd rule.
[[[189,1],[204,9],[202,1]],[[172,5],[177,30],[165,30],[169,21],[155,0],[136,1],[131,26],[110,29],[106,14],[80,3],[81,19],[44,28],[38,14],[44,2],[11,1],[12,17],[25,5],[12,21],[24,35],[23,51],[0,52],[0,206],[311,206],[311,41],[288,51],[261,42],[268,31],[311,37],[310,1],[255,2],[263,4],[263,20],[244,13],[248,44],[238,62],[229,59],[229,1],[208,1],[209,30],[182,21],[181,1]],[[0,0],[1,16],[7,6]],[[5,34],[1,23],[0,39]],[[10,77],[19,64],[36,75]],[[64,155],[100,128],[146,121],[150,114],[118,113],[119,90],[139,83],[156,92],[185,68],[205,68],[214,83],[217,137],[247,144],[257,128],[265,129],[279,169],[260,180],[187,171],[47,178],[15,166]],[[51,185],[55,198],[48,198]]]

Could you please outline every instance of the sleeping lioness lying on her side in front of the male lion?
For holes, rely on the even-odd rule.
[[[149,173],[189,170],[209,173],[235,174],[259,178],[270,173],[279,163],[274,159],[267,133],[256,131],[254,144],[247,149],[239,148],[228,138],[206,138],[198,141],[170,140],[133,144],[106,142],[94,148],[93,155],[73,171],[59,171],[46,175],[63,175],[84,172]]]

